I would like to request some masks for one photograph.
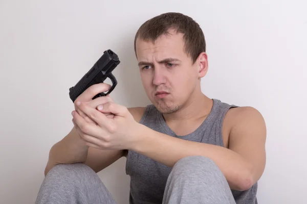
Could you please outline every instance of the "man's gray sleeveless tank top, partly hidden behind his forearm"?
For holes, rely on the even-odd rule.
[[[224,147],[222,139],[223,119],[226,112],[233,107],[237,106],[213,99],[212,110],[198,129],[191,134],[180,136],[179,138]],[[153,105],[146,107],[140,123],[171,137],[178,137],[168,127],[162,114]],[[130,176],[130,204],[144,204],[144,200],[148,204],[162,203],[164,188],[170,171],[170,167],[129,150],[126,160],[126,174]],[[256,204],[256,192],[257,183],[246,191],[232,190],[237,204]]]

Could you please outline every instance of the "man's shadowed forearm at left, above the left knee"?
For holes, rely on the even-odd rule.
[[[49,160],[45,169],[45,175],[57,164],[72,164],[85,162],[89,146],[81,140],[74,138],[72,133],[52,146],[49,152]]]

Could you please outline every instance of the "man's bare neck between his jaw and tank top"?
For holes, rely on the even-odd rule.
[[[207,116],[211,112],[212,106],[212,99],[200,92],[190,97],[180,110],[170,114],[163,114],[163,117],[165,121],[199,119]]]

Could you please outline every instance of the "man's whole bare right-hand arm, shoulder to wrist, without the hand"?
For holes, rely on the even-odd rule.
[[[140,140],[134,150],[170,167],[187,156],[208,157],[224,173],[231,189],[247,190],[265,168],[266,125],[261,114],[251,107],[236,108],[231,114],[234,123],[229,149],[170,137],[140,125]]]

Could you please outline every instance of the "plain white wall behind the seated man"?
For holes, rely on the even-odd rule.
[[[73,125],[69,88],[105,49],[121,60],[113,98],[128,107],[149,103],[133,39],[141,23],[169,11],[203,28],[209,55],[203,92],[254,106],[266,119],[259,203],[306,203],[307,3],[112,2],[0,1],[0,203],[34,203],[50,147]],[[120,204],[128,202],[124,165],[121,159],[99,173]]]

